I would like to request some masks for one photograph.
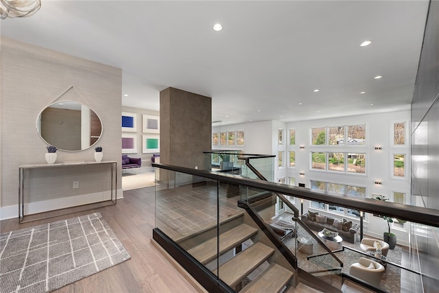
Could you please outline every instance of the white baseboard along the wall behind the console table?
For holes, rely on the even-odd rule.
[[[122,189],[117,190],[117,199],[123,198]],[[56,198],[54,200],[42,200],[40,202],[29,202],[25,205],[25,214],[42,213],[56,209],[65,209],[82,204],[91,204],[93,202],[102,202],[110,199],[110,191],[98,192],[95,194],[82,194],[80,196],[70,196],[68,198]],[[0,220],[19,218],[19,205],[14,204],[8,207],[0,207]]]

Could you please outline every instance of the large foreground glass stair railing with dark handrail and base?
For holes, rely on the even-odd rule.
[[[334,196],[221,172],[162,164],[154,167],[160,180],[156,182],[153,238],[209,292],[246,292],[253,286],[276,292],[302,281],[320,284],[316,289],[323,292],[342,292],[346,280],[373,292],[410,292],[404,289],[405,279],[421,283],[426,277],[435,279],[407,266],[410,251],[395,248],[388,257],[376,259],[359,249],[359,243],[342,242],[340,247],[336,241],[327,242],[300,220],[301,212],[290,200],[295,198],[299,206],[304,198],[374,215],[393,215],[430,230],[439,226],[439,211]],[[230,197],[230,186],[237,187],[239,198]],[[281,206],[284,208],[278,209]],[[351,272],[362,258],[385,267],[379,282]],[[273,281],[274,276],[281,279]],[[268,287],[273,283],[276,289]]]

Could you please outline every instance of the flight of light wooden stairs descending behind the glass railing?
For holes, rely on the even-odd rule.
[[[211,269],[213,274],[237,292],[282,292],[285,286],[289,286],[294,272],[284,268],[282,261],[275,261],[282,258],[280,253],[270,247],[270,243],[263,241],[263,244],[261,240],[265,239],[265,235],[256,225],[244,223],[244,218],[244,215],[240,215],[220,224],[219,255],[222,257],[219,267],[216,266],[218,242],[215,227],[186,237],[178,244],[204,266],[214,267]],[[235,253],[233,248],[243,247],[241,244],[249,243],[248,239],[251,239],[252,245]],[[258,274],[259,270],[262,271]],[[250,280],[250,276],[255,274],[257,277]]]

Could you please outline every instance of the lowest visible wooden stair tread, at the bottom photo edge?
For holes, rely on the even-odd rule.
[[[293,272],[279,266],[277,263],[272,263],[239,293],[281,292],[292,277]]]

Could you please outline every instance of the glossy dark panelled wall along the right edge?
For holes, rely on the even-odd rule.
[[[439,1],[431,1],[412,99],[412,204],[439,209]],[[412,226],[412,266],[438,292],[439,229]],[[422,292],[416,288],[416,292]]]

